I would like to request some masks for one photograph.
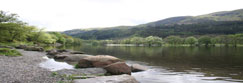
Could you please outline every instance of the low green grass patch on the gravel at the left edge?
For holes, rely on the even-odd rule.
[[[4,56],[22,56],[18,51],[9,48],[0,48],[0,55]]]

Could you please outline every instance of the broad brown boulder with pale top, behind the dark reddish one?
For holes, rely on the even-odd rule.
[[[109,64],[120,62],[120,61],[122,60],[109,55],[89,56],[80,59],[77,64],[77,67],[78,68],[105,67]]]

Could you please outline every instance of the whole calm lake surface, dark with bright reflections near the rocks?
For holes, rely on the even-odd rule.
[[[112,55],[149,70],[133,73],[142,83],[241,83],[243,47],[65,47],[93,55]]]

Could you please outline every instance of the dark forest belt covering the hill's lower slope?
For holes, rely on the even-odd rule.
[[[64,32],[73,37],[85,40],[121,39],[131,36],[148,37],[158,36],[165,38],[170,35],[194,36],[194,35],[229,35],[243,33],[243,21],[207,21],[195,24],[174,25],[138,25],[123,26],[122,28],[105,28],[99,30],[70,30]]]

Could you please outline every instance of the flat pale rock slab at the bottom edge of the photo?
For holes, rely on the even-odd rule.
[[[75,79],[73,83],[139,83],[130,75],[101,76],[89,79]]]

